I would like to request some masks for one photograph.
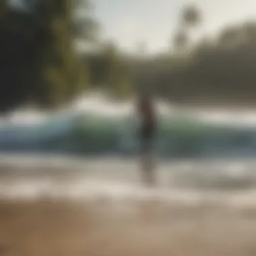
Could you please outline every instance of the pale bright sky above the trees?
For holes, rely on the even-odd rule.
[[[94,15],[102,24],[103,37],[115,40],[124,50],[134,51],[137,42],[145,41],[148,51],[158,52],[168,49],[179,14],[190,3],[203,13],[199,35],[256,20],[255,0],[94,0]]]

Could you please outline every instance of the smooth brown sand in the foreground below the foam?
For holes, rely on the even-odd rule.
[[[223,205],[1,201],[0,255],[255,256],[256,210]]]

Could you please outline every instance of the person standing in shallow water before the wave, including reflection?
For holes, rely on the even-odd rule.
[[[141,149],[141,171],[143,181],[147,185],[155,185],[153,148],[156,133],[156,113],[152,96],[149,93],[142,94],[138,102],[139,113],[139,143]]]

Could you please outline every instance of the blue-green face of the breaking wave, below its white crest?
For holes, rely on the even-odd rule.
[[[137,154],[138,122],[131,116],[60,115],[37,125],[0,127],[2,152]],[[158,120],[155,151],[168,158],[247,157],[256,154],[256,129],[206,124],[188,117]]]

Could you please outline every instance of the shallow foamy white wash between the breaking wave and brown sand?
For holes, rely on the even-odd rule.
[[[0,158],[0,170],[7,168],[8,172],[0,172],[0,197],[189,204],[214,199],[237,207],[254,207],[254,166],[253,160],[158,162],[159,185],[150,189],[141,185],[135,159],[63,158],[61,161],[53,156],[5,155]]]

